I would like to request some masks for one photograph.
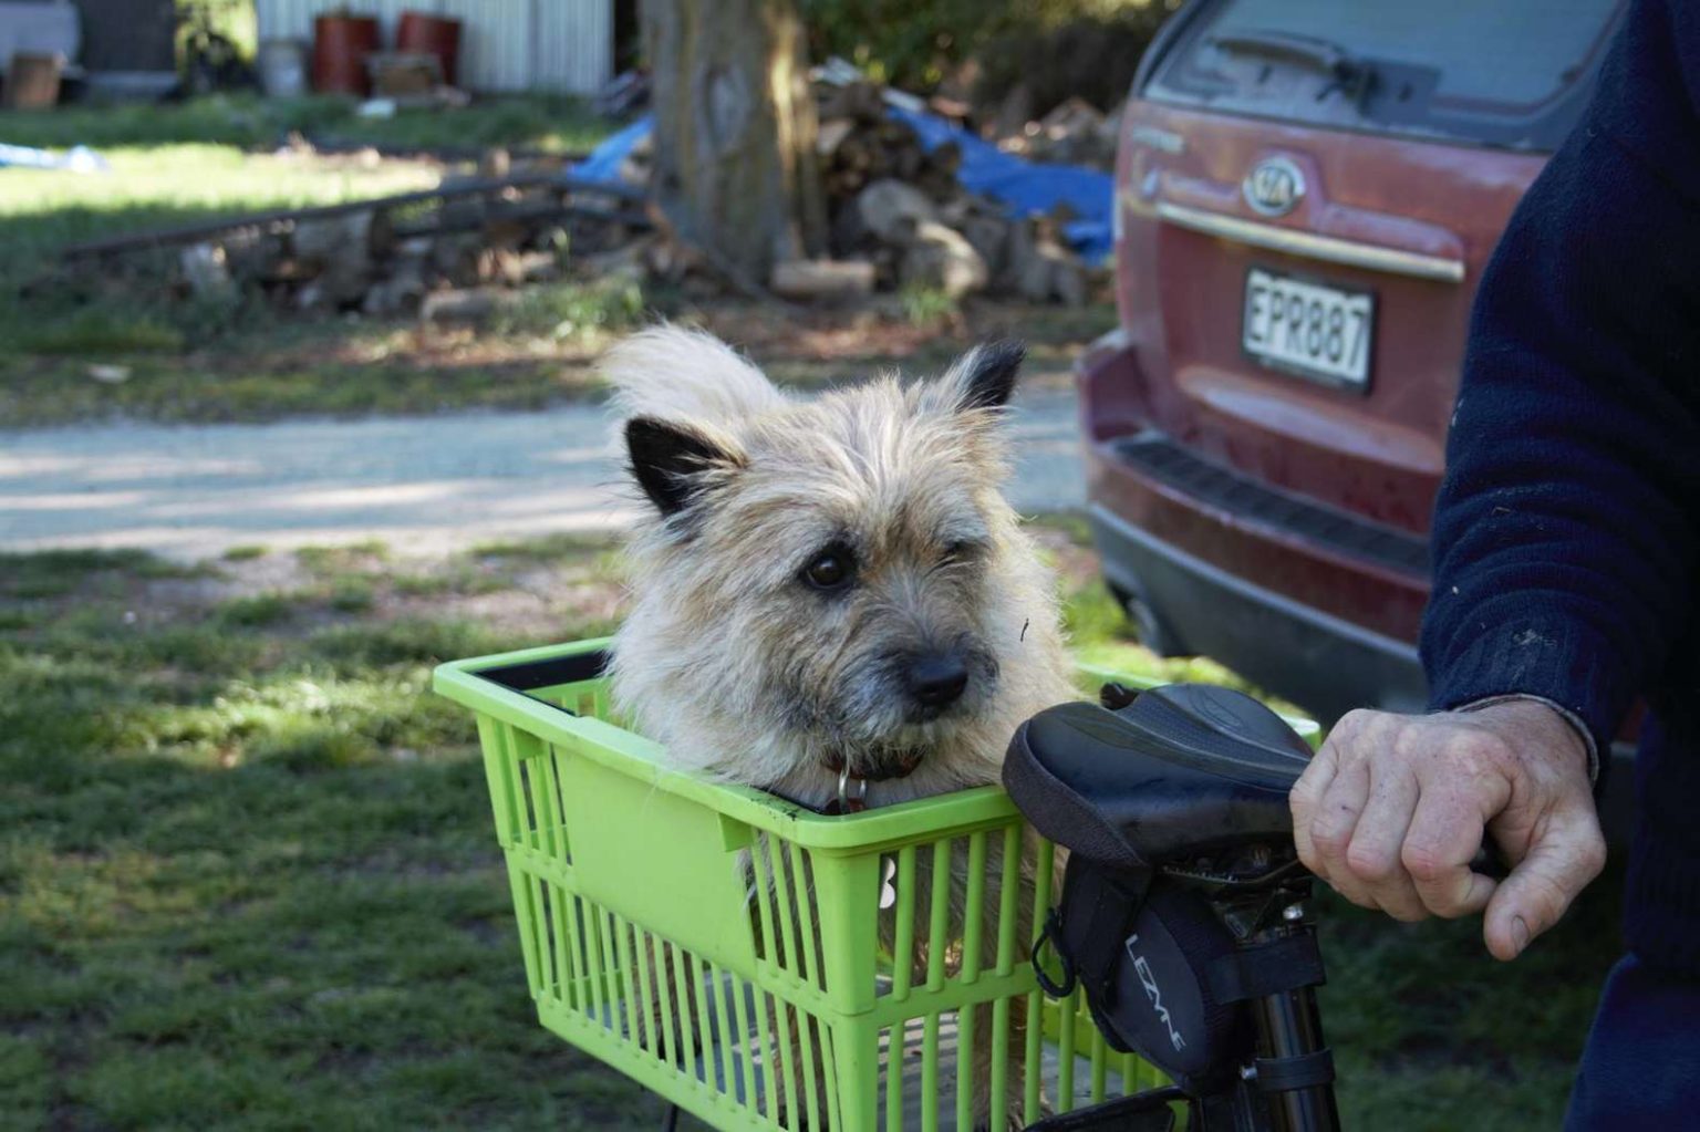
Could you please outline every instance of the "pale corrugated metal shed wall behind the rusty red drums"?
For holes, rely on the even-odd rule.
[[[313,17],[352,7],[376,15],[384,46],[403,12],[461,20],[461,85],[469,90],[592,93],[614,71],[614,0],[255,0],[260,39],[313,42]]]

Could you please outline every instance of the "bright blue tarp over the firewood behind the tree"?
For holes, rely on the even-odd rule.
[[[1074,250],[1091,262],[1110,253],[1110,209],[1115,201],[1115,178],[1083,165],[1042,165],[1005,153],[989,141],[952,126],[921,110],[904,110],[894,105],[886,114],[915,129],[923,150],[935,150],[954,141],[962,150],[962,168],[957,180],[969,192],[1001,202],[1010,216],[1051,212],[1066,204],[1074,218],[1062,226]],[[586,180],[619,180],[620,161],[632,146],[649,136],[654,122],[646,114],[619,131],[573,170]]]

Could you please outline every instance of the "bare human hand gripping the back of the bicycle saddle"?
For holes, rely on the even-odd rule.
[[[1586,744],[1533,700],[1352,712],[1290,801],[1299,857],[1341,896],[1396,920],[1486,909],[1496,959],[1516,959],[1605,867]],[[1511,865],[1501,882],[1469,869],[1484,829]]]

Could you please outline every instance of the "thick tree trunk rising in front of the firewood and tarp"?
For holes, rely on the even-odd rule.
[[[678,233],[746,282],[818,255],[802,20],[794,0],[644,0],[656,202]]]

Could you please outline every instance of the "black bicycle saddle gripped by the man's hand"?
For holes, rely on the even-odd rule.
[[[1010,741],[1003,784],[1057,845],[1151,869],[1219,846],[1290,843],[1287,792],[1309,758],[1304,739],[1250,695],[1176,683],[1114,712],[1039,712]]]

